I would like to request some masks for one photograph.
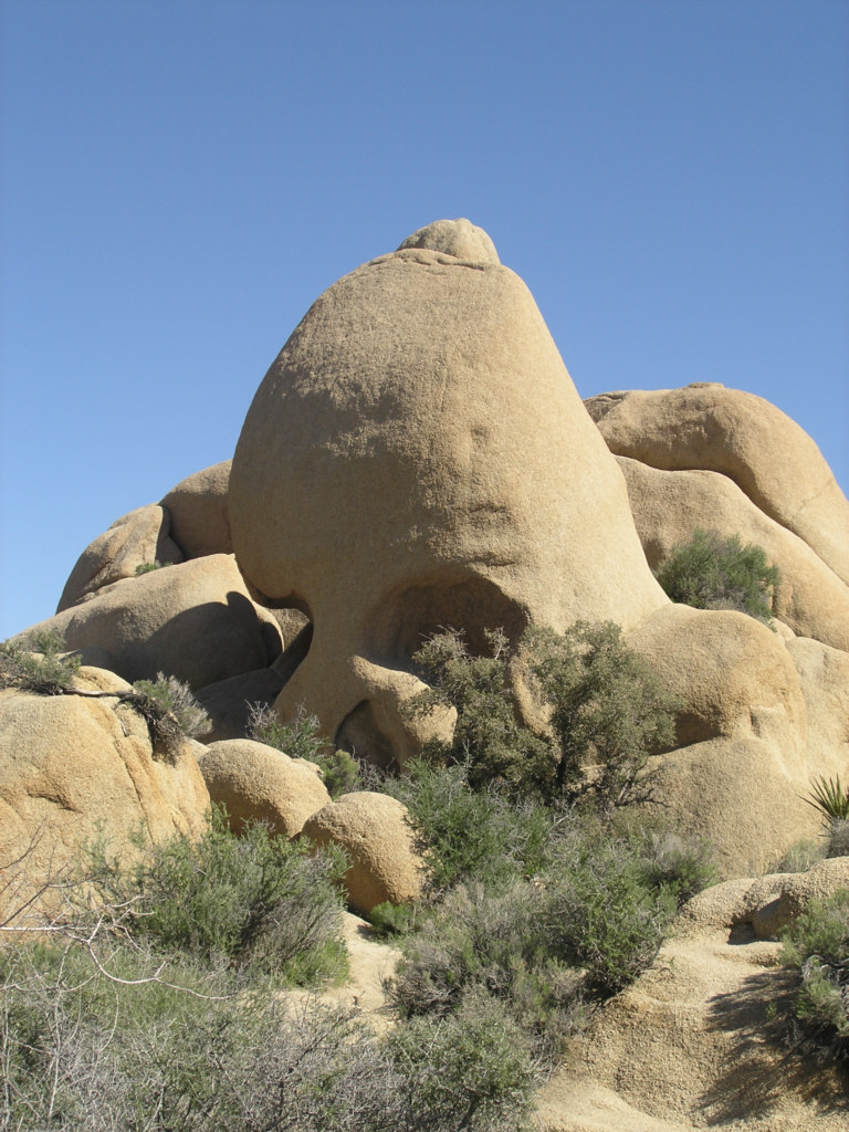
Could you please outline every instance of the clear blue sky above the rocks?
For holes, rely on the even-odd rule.
[[[0,637],[232,455],[326,286],[443,216],[582,396],[748,389],[849,487],[846,0],[0,10]]]

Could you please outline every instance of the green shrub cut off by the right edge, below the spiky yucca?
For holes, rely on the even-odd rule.
[[[783,961],[801,976],[795,1038],[821,1057],[849,1061],[849,890],[813,900],[782,942]]]

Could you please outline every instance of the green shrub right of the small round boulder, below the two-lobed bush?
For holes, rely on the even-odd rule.
[[[556,815],[495,786],[474,790],[466,766],[414,760],[380,787],[410,811],[437,892],[462,880],[498,884],[532,876],[548,859]]]

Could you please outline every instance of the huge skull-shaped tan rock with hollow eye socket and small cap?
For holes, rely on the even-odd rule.
[[[278,712],[378,762],[447,726],[398,713],[428,634],[477,651],[486,628],[628,628],[667,603],[531,293],[465,220],[316,300],[250,406],[229,506],[248,583],[314,624]]]

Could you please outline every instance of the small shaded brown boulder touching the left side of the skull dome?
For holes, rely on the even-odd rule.
[[[171,516],[171,538],[186,558],[232,554],[228,516],[231,463],[226,460],[195,472],[160,501]]]

